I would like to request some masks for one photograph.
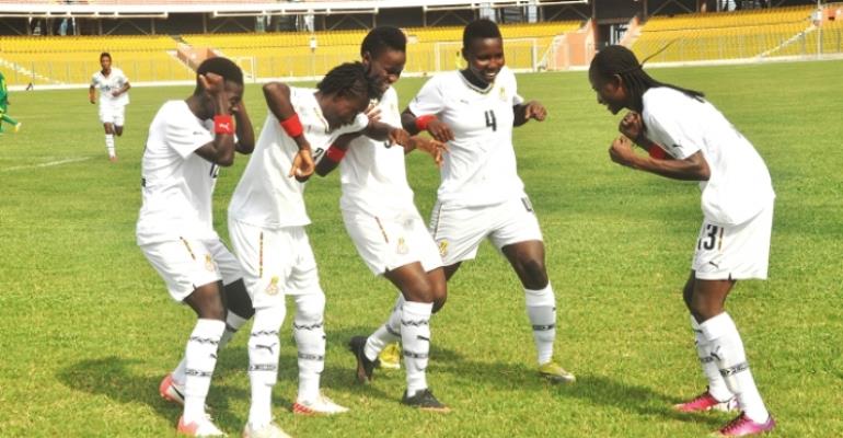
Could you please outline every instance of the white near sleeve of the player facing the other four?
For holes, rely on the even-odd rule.
[[[648,138],[661,142],[662,149],[684,160],[703,148],[703,132],[688,105],[653,105],[647,108],[645,126]]]

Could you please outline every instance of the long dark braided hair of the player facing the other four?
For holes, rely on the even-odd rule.
[[[656,55],[658,55],[658,53],[656,53]],[[647,59],[644,61],[646,62]],[[591,67],[589,67],[588,71],[589,74],[597,74],[600,78],[611,78],[615,74],[620,76],[626,87],[626,91],[632,96],[633,107],[631,110],[639,113],[644,111],[642,96],[644,96],[644,92],[651,88],[667,87],[680,91],[697,101],[702,101],[705,96],[700,91],[683,89],[653,79],[653,77],[644,71],[643,64],[644,62],[638,64],[635,54],[624,46],[607,46],[591,60]]]

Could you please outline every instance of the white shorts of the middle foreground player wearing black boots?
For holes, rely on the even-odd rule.
[[[442,257],[416,209],[393,217],[343,210],[348,235],[372,274],[419,262],[426,273],[442,266]]]

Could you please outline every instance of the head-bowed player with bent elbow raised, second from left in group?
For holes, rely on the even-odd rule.
[[[229,206],[229,234],[255,308],[249,341],[252,404],[243,436],[280,436],[272,417],[278,376],[278,330],[285,297],[296,302],[298,347],[296,414],[348,411],[320,392],[325,360],[325,293],[304,227],[310,223],[303,182],[313,173],[314,151],[340,135],[363,131],[381,141],[406,142],[406,132],[370,123],[363,111],[380,96],[379,85],[359,62],[331,70],[316,90],[273,82],[264,85],[269,115]],[[321,153],[317,153],[317,158]]]

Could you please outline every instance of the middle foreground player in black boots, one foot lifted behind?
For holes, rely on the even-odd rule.
[[[360,47],[369,76],[382,84],[383,97],[373,112],[390,126],[401,126],[395,89],[406,61],[406,36],[397,27],[376,27]],[[402,403],[426,411],[446,412],[427,387],[425,369],[430,350],[430,314],[434,302],[444,299],[442,260],[436,243],[413,204],[404,154],[420,148],[441,159],[444,145],[413,137],[404,147],[392,147],[366,136],[347,135],[325,152],[316,173],[325,175],[339,165],[343,211],[348,235],[372,274],[382,275],[399,289],[388,321],[370,336],[349,343],[357,358],[357,379],[371,380],[378,354],[401,339],[404,346],[407,390]]]

